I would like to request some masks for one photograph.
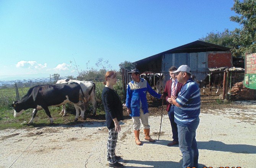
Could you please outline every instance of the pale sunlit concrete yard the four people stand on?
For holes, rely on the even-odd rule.
[[[161,102],[160,102],[161,104]],[[158,139],[161,106],[149,100],[151,137]],[[94,120],[94,121],[92,121]],[[256,163],[256,101],[228,104],[202,102],[196,139],[199,168],[220,166],[253,168]],[[179,168],[182,154],[172,140],[170,121],[165,111],[161,134],[156,143],[134,143],[131,119],[121,122],[116,154],[126,167]],[[91,117],[75,125],[52,125],[0,131],[0,168],[104,168],[108,131],[103,119]]]

